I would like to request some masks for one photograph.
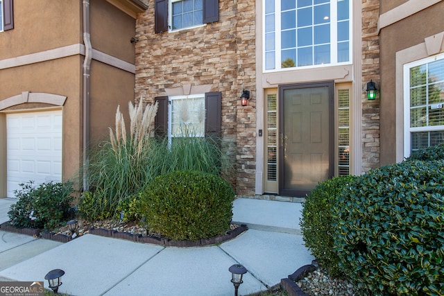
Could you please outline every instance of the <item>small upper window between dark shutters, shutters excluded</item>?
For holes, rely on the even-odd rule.
[[[172,30],[203,24],[203,0],[172,0]]]

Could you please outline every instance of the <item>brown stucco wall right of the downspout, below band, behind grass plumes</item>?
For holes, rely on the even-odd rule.
[[[117,105],[120,105],[120,111],[129,128],[128,102],[134,101],[133,73],[92,61],[90,96],[89,132],[92,144],[104,138],[108,140],[108,127],[113,130],[115,127]]]

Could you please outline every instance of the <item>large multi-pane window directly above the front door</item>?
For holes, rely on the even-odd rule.
[[[262,0],[264,69],[349,63],[350,0]]]

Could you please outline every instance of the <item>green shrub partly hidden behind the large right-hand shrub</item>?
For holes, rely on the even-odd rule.
[[[305,245],[323,268],[340,276],[339,258],[334,252],[332,226],[333,205],[353,176],[334,177],[316,186],[305,198],[300,227]]]

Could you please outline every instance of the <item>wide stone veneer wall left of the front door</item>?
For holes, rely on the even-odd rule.
[[[222,92],[222,137],[235,161],[238,195],[255,193],[255,1],[219,1],[219,21],[154,33],[154,1],[137,16],[135,100],[153,103],[166,88],[212,85]],[[242,89],[250,90],[241,107]]]

